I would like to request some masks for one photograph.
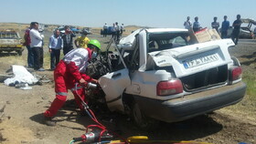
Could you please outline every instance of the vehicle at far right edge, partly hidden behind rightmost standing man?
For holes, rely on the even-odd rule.
[[[253,30],[251,30],[251,26],[256,25],[256,22],[250,18],[247,18],[247,19],[241,18],[240,20],[242,21],[242,25],[243,25],[243,26],[240,26],[240,38],[252,39],[253,38]],[[233,27],[229,26],[228,37],[231,37],[232,31],[233,31]]]

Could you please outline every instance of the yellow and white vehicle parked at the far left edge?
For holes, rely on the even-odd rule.
[[[23,50],[22,38],[16,30],[0,30],[0,53],[15,51],[19,56],[22,56]]]

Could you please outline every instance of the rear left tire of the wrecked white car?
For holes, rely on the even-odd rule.
[[[133,122],[139,129],[156,129],[159,124],[158,120],[146,117],[136,102],[133,102],[132,104],[132,118]]]

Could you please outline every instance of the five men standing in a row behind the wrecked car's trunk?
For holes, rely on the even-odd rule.
[[[211,27],[216,29],[216,31],[218,33],[220,33],[221,38],[228,38],[228,30],[229,30],[229,21],[228,16],[224,15],[224,20],[221,24],[221,28],[220,28],[220,32],[219,32],[219,22],[218,17],[213,17],[213,22],[211,23]],[[233,40],[233,42],[235,43],[235,45],[238,44],[239,41],[239,35],[240,35],[240,26],[242,24],[242,21],[240,20],[240,15],[237,15],[237,19],[233,22],[232,26],[233,26],[233,30],[231,33],[231,38]],[[193,29],[193,31],[195,33],[197,33],[198,31],[200,31],[202,29],[201,24],[198,21],[198,17],[195,17],[195,22],[192,24],[192,22],[190,21],[190,17],[187,16],[187,20],[184,22],[184,26],[187,29]]]

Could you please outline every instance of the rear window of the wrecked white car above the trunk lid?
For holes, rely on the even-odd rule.
[[[179,46],[187,46],[186,32],[182,33],[152,33],[148,35],[147,52],[171,49]]]

